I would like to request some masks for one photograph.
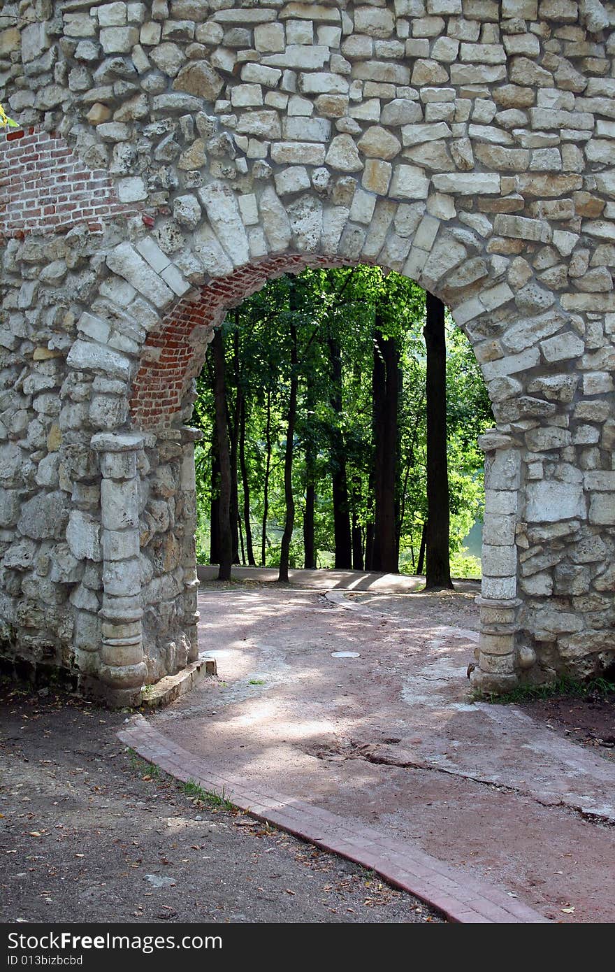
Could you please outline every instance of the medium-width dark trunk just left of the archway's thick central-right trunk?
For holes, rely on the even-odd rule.
[[[338,341],[328,341],[331,365],[331,408],[339,421],[342,414],[342,352]],[[353,540],[348,502],[348,479],[344,440],[339,426],[331,430],[331,485],[333,491],[333,532],[335,537],[335,567],[341,570],[353,566]]]

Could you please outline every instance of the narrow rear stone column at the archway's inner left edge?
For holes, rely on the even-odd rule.
[[[184,629],[188,639],[188,662],[198,658],[198,621],[197,610],[198,577],[196,575],[196,553],[194,532],[196,530],[196,481],[194,474],[194,442],[203,437],[199,429],[182,428],[182,470],[181,489],[184,499],[184,538],[182,548],[182,567],[184,568]]]

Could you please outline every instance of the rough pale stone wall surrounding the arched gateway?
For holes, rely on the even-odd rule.
[[[272,276],[370,262],[447,303],[494,404],[475,682],[611,665],[613,6],[36,0],[0,24],[5,659],[122,703],[195,657],[212,329]]]

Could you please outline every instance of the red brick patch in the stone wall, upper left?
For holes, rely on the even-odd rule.
[[[88,169],[57,135],[34,128],[0,135],[0,239],[66,232],[137,210],[120,203],[103,170]]]

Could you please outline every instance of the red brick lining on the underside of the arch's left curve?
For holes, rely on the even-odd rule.
[[[196,300],[184,298],[148,335],[134,381],[130,412],[135,429],[155,430],[174,424],[188,383],[203,366],[202,340],[191,340],[196,327],[222,323],[224,313],[283,273],[308,266],[341,266],[344,260],[284,256],[260,260],[201,288]]]

